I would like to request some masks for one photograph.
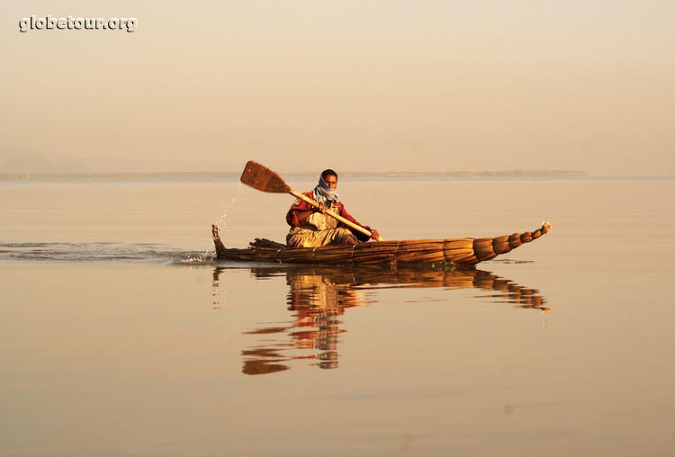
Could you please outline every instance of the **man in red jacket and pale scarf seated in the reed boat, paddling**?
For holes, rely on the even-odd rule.
[[[358,242],[368,241],[368,236],[347,228],[342,222],[328,215],[333,211],[343,218],[354,222],[373,233],[372,238],[378,239],[377,230],[360,224],[345,210],[340,202],[338,189],[338,174],[333,170],[324,170],[319,178],[319,184],[314,190],[305,193],[313,201],[319,203],[319,209],[311,204],[296,200],[286,214],[286,222],[291,230],[286,236],[286,245],[289,247],[316,247],[327,245],[356,245]]]

